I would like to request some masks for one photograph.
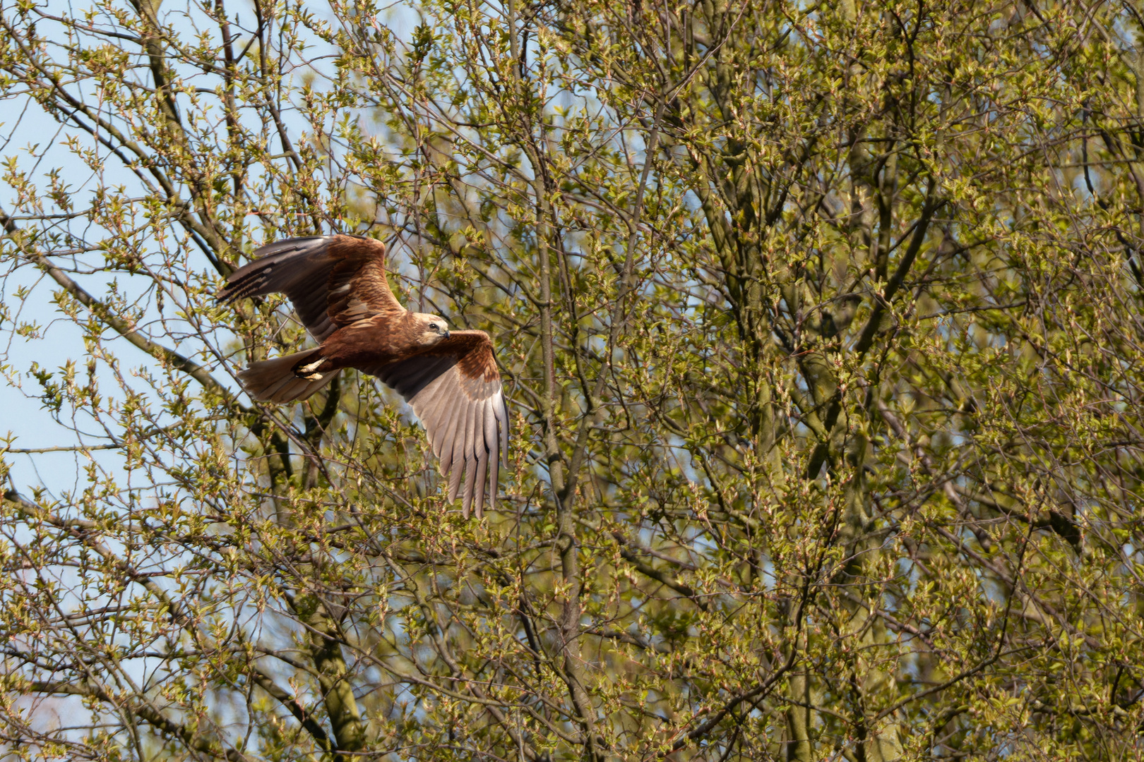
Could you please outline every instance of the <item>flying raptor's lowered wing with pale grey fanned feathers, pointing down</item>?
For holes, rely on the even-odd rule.
[[[448,499],[456,499],[463,475],[464,515],[475,504],[480,516],[486,475],[492,505],[499,466],[508,466],[508,408],[488,334],[452,331],[424,353],[359,370],[380,378],[413,407],[440,474],[448,479]]]

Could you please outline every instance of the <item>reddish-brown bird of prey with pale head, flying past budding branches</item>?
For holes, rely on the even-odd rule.
[[[283,292],[318,346],[252,362],[238,377],[255,400],[304,400],[342,368],[376,376],[413,407],[464,516],[477,516],[498,462],[508,466],[508,408],[488,334],[450,330],[438,315],[410,312],[386,281],[386,247],[356,235],[278,241],[227,279],[219,299]],[[498,432],[499,428],[499,432]],[[499,457],[498,457],[499,456]]]

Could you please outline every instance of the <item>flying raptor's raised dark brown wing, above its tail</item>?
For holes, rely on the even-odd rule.
[[[293,238],[262,247],[235,271],[222,300],[283,292],[310,335],[324,342],[341,326],[405,308],[386,281],[386,244],[357,235]]]

